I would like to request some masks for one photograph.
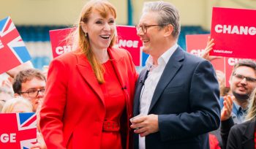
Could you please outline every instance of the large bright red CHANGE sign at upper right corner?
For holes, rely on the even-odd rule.
[[[256,10],[214,7],[211,37],[215,46],[211,56],[256,58]]]

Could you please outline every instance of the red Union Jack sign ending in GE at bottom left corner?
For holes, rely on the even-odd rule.
[[[37,142],[37,115],[34,112],[0,113],[0,148],[31,148]]]

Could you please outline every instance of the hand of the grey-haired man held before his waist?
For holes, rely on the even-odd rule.
[[[145,137],[148,134],[159,131],[158,127],[158,115],[144,115],[131,120],[131,128],[135,129],[136,134],[140,134],[140,137]]]

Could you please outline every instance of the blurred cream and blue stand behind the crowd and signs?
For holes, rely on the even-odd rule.
[[[146,0],[109,0],[117,9],[117,25],[135,26]],[[256,0],[165,0],[181,15],[178,44],[186,50],[186,34],[208,34],[212,7],[256,9]],[[0,20],[10,16],[37,69],[53,58],[49,30],[73,26],[86,0],[1,0]],[[236,17],[236,16],[234,16]],[[245,16],[246,17],[246,16]],[[237,18],[239,19],[239,18]],[[254,19],[254,18],[252,18]]]

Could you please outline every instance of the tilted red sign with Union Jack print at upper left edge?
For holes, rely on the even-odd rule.
[[[0,74],[30,59],[31,56],[11,18],[0,20]]]

